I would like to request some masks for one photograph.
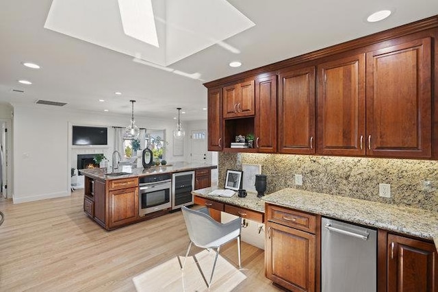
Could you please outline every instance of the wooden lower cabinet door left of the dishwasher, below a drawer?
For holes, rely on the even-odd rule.
[[[315,291],[315,235],[267,225],[266,277],[291,291]]]

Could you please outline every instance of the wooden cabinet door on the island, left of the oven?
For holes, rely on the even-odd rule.
[[[108,208],[110,228],[138,219],[138,188],[110,191]]]

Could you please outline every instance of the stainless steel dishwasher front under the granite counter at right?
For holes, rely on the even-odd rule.
[[[321,229],[321,291],[376,291],[376,230],[325,217]]]

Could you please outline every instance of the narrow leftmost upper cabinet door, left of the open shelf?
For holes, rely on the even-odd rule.
[[[209,151],[222,151],[222,88],[208,90],[207,148]]]

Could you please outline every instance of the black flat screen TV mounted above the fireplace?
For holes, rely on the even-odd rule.
[[[73,126],[73,145],[107,145],[106,127]]]

